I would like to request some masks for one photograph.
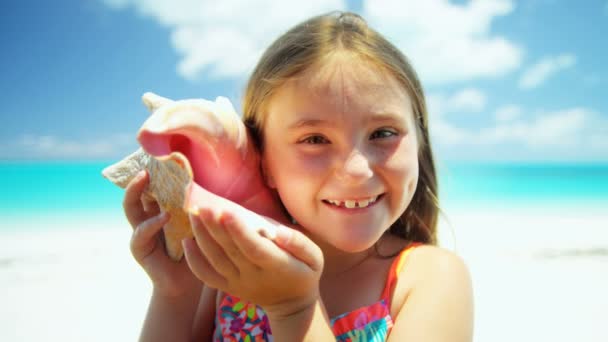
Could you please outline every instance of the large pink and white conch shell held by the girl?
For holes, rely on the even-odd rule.
[[[171,214],[163,228],[169,257],[182,258],[181,240],[192,237],[187,212],[203,206],[230,210],[252,229],[274,238],[273,227],[288,220],[263,181],[259,154],[230,101],[172,101],[153,93],[142,100],[152,112],[137,135],[143,149],[102,174],[125,188],[140,170],[148,171],[145,196]]]

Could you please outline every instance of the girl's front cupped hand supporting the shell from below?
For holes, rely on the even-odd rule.
[[[253,220],[210,208],[190,220],[196,240],[185,243],[185,256],[206,285],[285,316],[317,300],[323,254],[301,232],[275,223],[273,242],[247,226]]]

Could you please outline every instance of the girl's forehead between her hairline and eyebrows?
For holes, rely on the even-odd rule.
[[[375,113],[412,117],[408,93],[393,75],[349,56],[333,57],[288,80],[267,108],[268,120],[302,114],[338,120]]]

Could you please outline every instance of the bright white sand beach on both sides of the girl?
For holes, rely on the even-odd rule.
[[[440,238],[470,267],[475,341],[608,340],[608,213],[448,217]],[[0,225],[1,341],[137,339],[151,287],[122,213]]]

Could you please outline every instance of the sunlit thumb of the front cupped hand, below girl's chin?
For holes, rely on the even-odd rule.
[[[308,236],[302,232],[278,225],[275,243],[286,252],[290,253],[314,271],[323,270],[323,252]]]

